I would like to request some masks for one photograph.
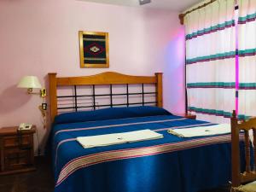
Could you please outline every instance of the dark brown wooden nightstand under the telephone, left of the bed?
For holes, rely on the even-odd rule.
[[[0,175],[34,171],[33,134],[31,130],[17,131],[18,127],[0,129]]]

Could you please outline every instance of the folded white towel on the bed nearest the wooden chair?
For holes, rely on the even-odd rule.
[[[230,133],[230,124],[218,124],[209,126],[196,126],[186,129],[169,129],[168,132],[177,137],[201,137]]]

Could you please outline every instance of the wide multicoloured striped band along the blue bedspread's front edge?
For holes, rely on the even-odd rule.
[[[196,148],[216,143],[230,143],[230,135],[200,138],[178,143],[166,143],[143,148],[126,148],[98,154],[84,155],[69,161],[65,166],[62,167],[55,187],[60,185],[69,175],[73,174],[73,172],[76,172],[84,167],[113,160],[125,160],[154,154],[165,154],[182,149]]]

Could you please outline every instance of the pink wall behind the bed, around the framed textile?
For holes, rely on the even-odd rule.
[[[184,109],[183,26],[176,12],[74,0],[0,1],[0,127],[32,122],[45,137],[39,96],[16,88],[24,75],[164,72],[164,106]],[[79,31],[109,32],[110,67],[79,67]]]

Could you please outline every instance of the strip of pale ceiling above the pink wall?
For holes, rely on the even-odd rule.
[[[94,3],[109,3],[123,6],[139,7],[139,0],[81,0]],[[141,5],[143,8],[169,9],[174,11],[183,11],[189,7],[200,3],[202,0],[151,0],[151,3]]]

